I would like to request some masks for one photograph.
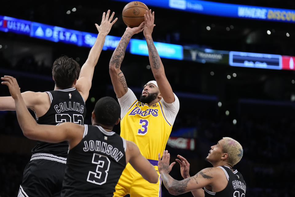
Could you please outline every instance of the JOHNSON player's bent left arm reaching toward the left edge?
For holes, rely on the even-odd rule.
[[[59,126],[38,124],[25,105],[16,79],[7,75],[1,79],[3,80],[1,83],[8,86],[14,99],[18,123],[27,138],[49,143],[72,141],[75,135],[81,135],[82,139],[83,132],[77,132],[84,130],[82,125],[75,123],[63,123]]]

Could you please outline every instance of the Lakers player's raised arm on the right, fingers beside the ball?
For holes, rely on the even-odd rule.
[[[154,74],[154,77],[156,79],[156,82],[158,84],[159,90],[164,101],[166,103],[173,103],[175,101],[175,97],[170,86],[170,83],[166,78],[163,63],[161,61],[161,58],[158,54],[158,51],[155,47],[154,41],[151,36],[151,33],[153,32],[153,28],[155,26],[154,19],[155,13],[151,12],[151,10],[146,11],[146,14],[144,15],[144,37],[148,45],[148,57],[151,64],[151,71]]]

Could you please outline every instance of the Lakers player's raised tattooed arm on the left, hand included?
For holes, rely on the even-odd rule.
[[[124,59],[127,45],[134,34],[144,29],[144,22],[138,27],[127,27],[118,46],[116,47],[109,64],[109,72],[114,87],[114,91],[118,98],[121,98],[128,90],[124,74],[120,70],[121,63]]]

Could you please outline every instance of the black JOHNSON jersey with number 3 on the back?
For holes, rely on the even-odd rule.
[[[83,139],[69,151],[61,196],[113,196],[126,166],[126,142],[115,132],[85,125]]]

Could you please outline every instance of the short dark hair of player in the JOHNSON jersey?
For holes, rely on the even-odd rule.
[[[96,102],[94,115],[96,123],[113,127],[120,118],[121,107],[114,98],[105,96]]]

